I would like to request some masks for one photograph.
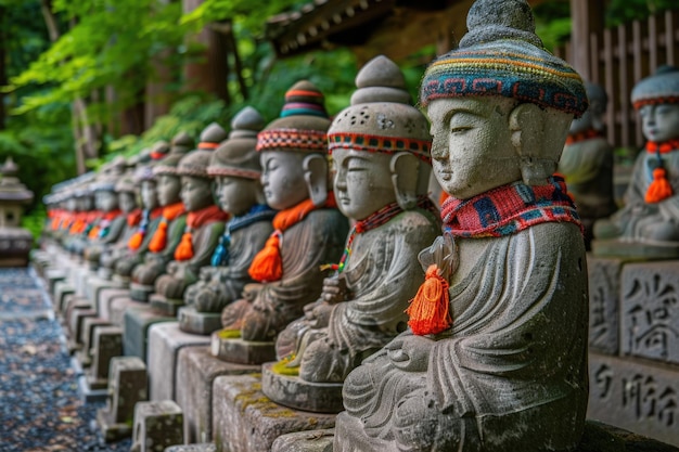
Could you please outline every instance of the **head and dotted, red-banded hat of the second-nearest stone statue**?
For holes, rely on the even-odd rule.
[[[328,130],[337,206],[356,220],[394,202],[411,209],[428,190],[428,122],[409,104],[403,75],[385,56],[363,66],[356,87],[351,106]]]

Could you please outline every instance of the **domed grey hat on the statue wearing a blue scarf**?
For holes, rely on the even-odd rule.
[[[264,128],[264,118],[252,106],[241,109],[231,120],[229,139],[221,143],[210,157],[209,176],[234,176],[259,179],[261,166],[257,146],[257,132]]]

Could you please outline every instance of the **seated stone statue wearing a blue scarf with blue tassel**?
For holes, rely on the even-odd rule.
[[[253,107],[233,117],[229,140],[210,158],[207,173],[215,182],[219,207],[231,216],[210,258],[200,270],[200,280],[187,287],[184,301],[198,312],[221,312],[236,300],[245,284],[255,255],[271,234],[276,211],[266,205],[259,177],[261,167],[255,151],[264,118]]]

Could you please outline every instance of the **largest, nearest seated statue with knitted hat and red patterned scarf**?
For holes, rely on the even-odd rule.
[[[585,246],[552,173],[585,88],[525,1],[476,1],[467,28],[421,86],[444,234],[410,328],[345,379],[335,451],[566,451],[582,434]]]

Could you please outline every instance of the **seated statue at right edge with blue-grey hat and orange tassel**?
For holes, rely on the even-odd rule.
[[[665,66],[641,80],[631,100],[648,142],[624,207],[594,224],[594,254],[679,256],[679,69]]]

